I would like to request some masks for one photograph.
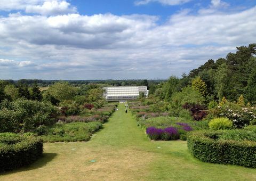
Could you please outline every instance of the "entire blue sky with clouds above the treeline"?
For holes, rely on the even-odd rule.
[[[0,79],[180,77],[255,27],[255,0],[1,0]]]

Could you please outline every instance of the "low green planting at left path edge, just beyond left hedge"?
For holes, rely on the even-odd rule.
[[[90,136],[102,128],[100,122],[71,122],[55,124],[44,130],[41,138],[44,142],[81,142],[89,141]]]

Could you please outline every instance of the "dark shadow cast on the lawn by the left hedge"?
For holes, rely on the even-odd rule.
[[[29,171],[29,170],[34,170],[34,169],[44,167],[48,162],[52,161],[56,156],[57,156],[56,153],[43,153],[41,158],[39,158],[29,166],[21,167],[12,171],[2,172],[0,173],[0,175],[9,175],[9,174],[14,174],[15,172]]]

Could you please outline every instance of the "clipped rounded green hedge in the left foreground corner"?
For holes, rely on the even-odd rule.
[[[43,141],[33,136],[0,134],[0,172],[33,163],[43,153]]]

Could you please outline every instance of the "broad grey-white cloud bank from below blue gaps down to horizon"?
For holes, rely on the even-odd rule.
[[[138,14],[10,14],[0,18],[0,78],[180,76],[256,42],[255,11],[191,15],[183,10],[163,24]]]

